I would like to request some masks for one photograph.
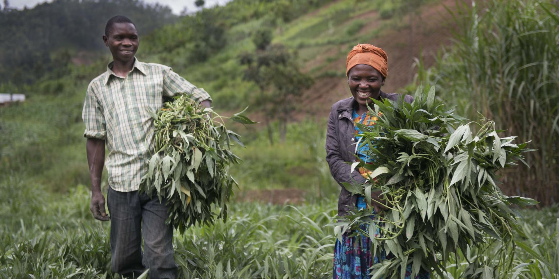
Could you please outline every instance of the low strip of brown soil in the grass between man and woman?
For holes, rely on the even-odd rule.
[[[306,192],[301,189],[247,190],[236,196],[237,201],[256,201],[270,204],[301,204]]]

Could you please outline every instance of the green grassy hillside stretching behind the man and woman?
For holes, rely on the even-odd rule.
[[[255,32],[270,30],[271,43],[294,50],[292,56],[301,69],[308,68],[309,63],[316,64],[305,69],[311,79],[340,79],[343,70],[331,69],[330,64],[344,59],[345,52],[357,42],[371,40],[382,29],[400,26],[396,18],[382,20],[377,10],[401,12],[397,3],[404,2],[388,6],[377,0],[309,1],[307,4],[234,1],[224,7],[204,9],[196,15],[183,17],[173,25],[141,37],[137,56],[141,61],[170,65],[193,84],[205,88],[212,95],[217,111],[233,111],[250,105],[254,118],[266,122],[261,111],[267,104],[257,98],[257,85],[243,79],[246,66],[240,64],[241,55],[255,52]],[[278,13],[280,9],[287,9],[283,11],[285,15]],[[377,21],[380,24],[375,23]],[[369,25],[374,28],[368,28]],[[317,64],[314,60],[324,48],[338,48],[339,51]],[[101,74],[108,61],[110,56],[105,54],[89,65],[69,63],[63,71],[65,74],[59,78],[43,78],[20,86],[0,85],[0,92],[28,93],[29,99],[21,105],[0,110],[2,128],[10,131],[0,136],[1,166],[18,175],[25,173],[27,179],[40,181],[56,191],[68,191],[76,184],[88,185],[80,109],[89,80]],[[278,143],[274,146],[264,136],[263,124],[241,133],[248,143],[247,149],[238,150],[245,163],[234,170],[239,174],[241,188],[309,189],[311,184],[316,189],[312,193],[324,192],[318,190],[319,187],[325,187],[328,193],[337,189],[329,177],[322,148],[325,126],[321,119],[327,115],[324,109],[330,105],[321,104],[321,112],[313,113],[302,125],[288,125],[290,132],[280,143],[280,118],[269,117],[272,137]],[[61,173],[60,169],[65,172]],[[300,176],[286,175],[293,169],[298,169]]]

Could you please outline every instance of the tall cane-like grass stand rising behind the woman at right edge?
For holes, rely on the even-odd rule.
[[[559,7],[551,0],[459,4],[451,51],[424,83],[436,83],[471,119],[492,118],[503,134],[532,140],[531,167],[505,172],[508,194],[559,202]],[[425,75],[430,73],[430,75]]]

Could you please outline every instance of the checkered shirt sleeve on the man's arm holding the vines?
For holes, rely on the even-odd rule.
[[[163,95],[166,97],[173,97],[177,94],[189,94],[192,99],[201,103],[205,100],[211,102],[210,94],[206,92],[203,88],[197,88],[188,80],[184,79],[182,76],[178,75],[171,68],[164,70],[163,75]]]

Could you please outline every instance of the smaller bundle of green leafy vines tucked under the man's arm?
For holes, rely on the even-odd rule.
[[[230,147],[234,142],[241,146],[243,143],[238,134],[216,119],[255,123],[243,112],[221,117],[187,95],[180,95],[152,113],[155,153],[140,191],[149,196],[155,192],[159,201],[165,200],[169,206],[167,224],[183,232],[191,225],[227,218],[227,203],[236,186],[228,166],[240,161]]]

